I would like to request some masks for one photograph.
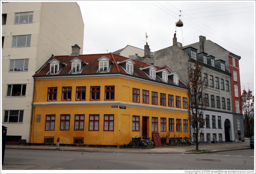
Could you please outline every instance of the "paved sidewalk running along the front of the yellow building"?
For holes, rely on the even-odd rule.
[[[117,148],[117,147],[79,147],[79,146],[57,146],[52,145],[6,145],[6,149],[34,149],[34,150],[59,150],[59,151],[82,151],[82,152],[112,152],[112,153],[154,153],[154,154],[184,154],[193,153],[187,152],[188,150],[195,150],[195,145],[190,146],[161,146],[153,149],[142,148]],[[226,143],[200,143],[200,150],[207,150],[199,153],[212,153],[230,150],[241,150],[250,148],[249,140],[244,142],[226,142]]]

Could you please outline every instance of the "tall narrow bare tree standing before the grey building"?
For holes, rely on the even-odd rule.
[[[202,66],[196,61],[195,65],[189,66],[189,83],[187,85],[189,96],[189,125],[190,132],[193,133],[193,139],[196,142],[196,150],[200,142],[200,132],[205,125],[205,119],[203,119],[203,113],[207,106],[207,99],[205,98],[205,90],[208,87],[205,78],[201,78]]]

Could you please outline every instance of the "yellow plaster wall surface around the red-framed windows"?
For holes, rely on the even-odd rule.
[[[185,90],[178,90],[155,84],[148,84],[124,78],[79,78],[79,79],[55,79],[55,80],[36,80],[34,103],[51,102],[47,101],[48,87],[57,87],[57,101],[61,102],[62,87],[72,86],[71,102],[75,100],[76,86],[86,86],[86,100],[90,101],[90,86],[101,86],[100,101],[105,99],[104,86],[115,86],[115,100],[123,102],[132,102],[132,88],[140,89],[140,103],[142,103],[142,90],[149,90],[149,103],[151,103],[151,91],[158,92],[158,105],[160,106],[160,93],[166,94],[166,106],[168,107],[168,94],[174,96],[187,97]],[[66,102],[66,101],[63,101]],[[91,101],[95,102],[95,101]],[[108,101],[106,101],[108,102]],[[151,105],[151,104],[146,104]],[[154,105],[155,106],[155,105]],[[184,109],[186,111],[187,109]],[[70,114],[69,131],[60,131],[60,115]],[[75,114],[84,114],[84,131],[74,131]],[[99,114],[99,131],[89,131],[89,115]],[[104,114],[114,115],[114,131],[103,131]],[[40,123],[36,122],[36,116],[41,115]],[[55,130],[45,131],[46,115],[55,115]],[[132,116],[140,116],[140,131],[132,131]],[[159,109],[148,109],[138,107],[128,107],[126,109],[112,108],[111,106],[35,106],[33,107],[31,143],[44,143],[44,137],[54,137],[54,142],[60,137],[60,143],[73,144],[74,137],[83,137],[84,144],[94,145],[123,145],[129,143],[134,136],[142,136],[142,117],[148,117],[147,131],[149,137],[152,137],[151,118],[158,117],[158,132],[160,136],[166,135],[168,131],[168,119],[174,118],[174,132],[170,132],[169,137],[189,137],[189,132],[183,132],[183,119],[188,119],[186,112],[172,112]],[[160,118],[166,118],[166,132],[160,132]],[[182,132],[176,132],[176,118],[182,119]]]

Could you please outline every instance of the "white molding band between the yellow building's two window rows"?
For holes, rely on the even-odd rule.
[[[160,107],[160,106],[151,106],[144,104],[134,104],[121,101],[95,101],[95,102],[43,102],[43,103],[32,103],[33,107],[48,107],[48,106],[125,106],[125,107],[138,107],[145,109],[155,109],[162,111],[172,111],[180,113],[188,113],[187,109],[178,109],[173,107]]]

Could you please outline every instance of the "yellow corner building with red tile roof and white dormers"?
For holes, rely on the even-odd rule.
[[[60,144],[123,145],[153,132],[189,137],[187,90],[178,76],[112,53],[52,56],[33,76],[30,143],[59,137]]]

